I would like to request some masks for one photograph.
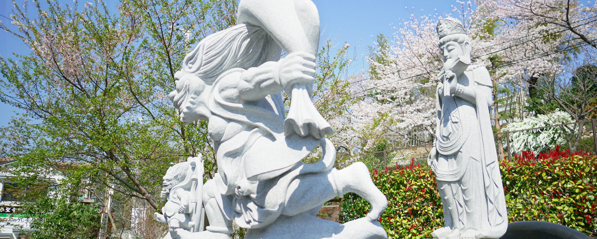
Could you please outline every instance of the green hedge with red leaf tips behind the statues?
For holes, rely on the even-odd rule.
[[[413,161],[414,162],[414,161]],[[500,162],[510,222],[547,221],[597,235],[597,158],[556,150],[523,152]],[[433,172],[426,165],[371,171],[386,195],[388,207],[380,223],[392,238],[432,238],[444,225],[444,213]],[[342,200],[343,222],[364,217],[370,204],[356,194]]]

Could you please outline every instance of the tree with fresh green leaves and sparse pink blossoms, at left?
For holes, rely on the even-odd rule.
[[[167,95],[190,48],[235,24],[236,1],[122,1],[117,13],[102,0],[13,3],[17,30],[0,28],[31,54],[0,57],[0,100],[24,111],[1,130],[0,155],[17,159],[21,188],[66,187],[96,206],[137,198],[159,210],[170,163],[203,154],[213,175],[207,125],[181,123]],[[45,180],[57,171],[66,178]]]

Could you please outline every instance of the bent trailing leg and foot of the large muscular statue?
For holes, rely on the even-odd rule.
[[[326,181],[329,184],[322,183]],[[376,221],[387,207],[386,196],[373,184],[367,166],[361,162],[328,173],[299,175],[288,191],[292,192],[287,195],[284,209],[288,216],[312,209],[344,193],[356,193],[371,203],[371,211],[367,214],[370,221]],[[307,194],[309,197],[304,196]]]

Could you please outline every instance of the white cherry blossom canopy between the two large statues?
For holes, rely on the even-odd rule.
[[[396,32],[393,45],[380,44],[370,57],[370,78],[359,82],[354,93],[362,98],[352,107],[362,150],[373,147],[382,135],[401,144],[413,126],[432,132],[435,124],[431,92],[441,62],[433,19],[413,17]],[[378,42],[383,41],[380,36]]]

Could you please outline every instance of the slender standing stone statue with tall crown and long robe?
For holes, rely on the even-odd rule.
[[[444,69],[436,91],[437,128],[427,163],[435,172],[445,226],[435,238],[500,238],[506,201],[489,118],[493,84],[485,67],[470,64],[462,23],[440,19]]]

